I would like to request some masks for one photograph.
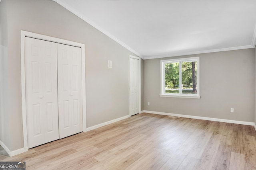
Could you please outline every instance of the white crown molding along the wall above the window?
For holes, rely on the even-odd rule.
[[[170,54],[170,55],[157,55],[157,56],[149,56],[144,57],[144,60],[148,59],[159,59],[159,58],[166,58],[166,57],[176,57],[176,56],[183,56],[183,55],[194,55],[194,54],[203,54],[203,53],[215,53],[215,52],[221,52],[221,51],[231,51],[231,50],[240,50],[240,49],[250,49],[254,48],[253,45],[245,45],[240,47],[230,47],[230,48],[223,48],[223,49],[213,49],[213,50],[204,50],[204,51],[191,51],[187,53],[176,53],[176,54]]]

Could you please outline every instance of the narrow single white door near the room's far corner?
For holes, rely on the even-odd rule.
[[[130,57],[129,60],[130,81],[130,115],[139,113],[139,59]]]

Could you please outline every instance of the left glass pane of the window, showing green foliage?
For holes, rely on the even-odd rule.
[[[165,64],[165,93],[180,93],[179,63]]]

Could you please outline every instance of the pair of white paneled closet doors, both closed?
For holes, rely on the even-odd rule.
[[[25,37],[28,149],[83,131],[81,48]]]

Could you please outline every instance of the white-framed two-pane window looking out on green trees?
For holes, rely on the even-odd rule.
[[[200,98],[199,57],[161,60],[162,97]]]

